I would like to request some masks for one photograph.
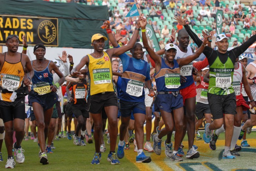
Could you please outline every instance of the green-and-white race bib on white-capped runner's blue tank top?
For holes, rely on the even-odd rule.
[[[171,73],[164,75],[165,87],[168,89],[176,89],[181,86],[180,74]]]

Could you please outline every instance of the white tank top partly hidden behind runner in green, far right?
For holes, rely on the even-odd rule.
[[[239,96],[241,94],[241,88],[242,88],[242,64],[238,62],[238,68],[234,69],[233,74],[233,88],[235,91],[235,96]]]

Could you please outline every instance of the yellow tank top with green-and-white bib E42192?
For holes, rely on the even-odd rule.
[[[89,57],[89,82],[88,95],[94,95],[102,92],[114,92],[112,82],[112,66],[110,57],[103,51],[101,58]]]

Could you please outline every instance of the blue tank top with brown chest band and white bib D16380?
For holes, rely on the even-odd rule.
[[[138,70],[133,66],[133,60],[129,59],[129,66],[122,75],[119,99],[130,102],[145,101],[144,83],[148,63],[146,61],[144,63],[143,69]]]

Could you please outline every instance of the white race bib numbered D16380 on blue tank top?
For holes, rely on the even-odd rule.
[[[144,83],[141,81],[130,80],[127,83],[126,93],[131,96],[140,97],[142,96]]]

